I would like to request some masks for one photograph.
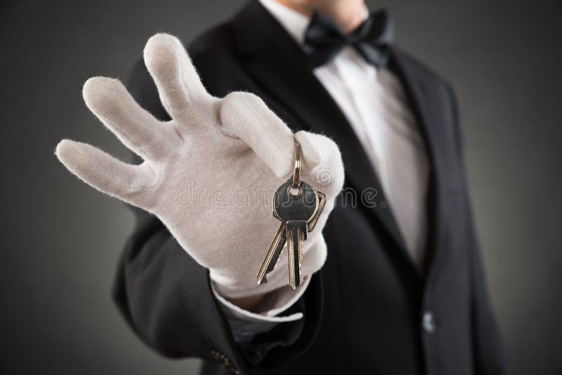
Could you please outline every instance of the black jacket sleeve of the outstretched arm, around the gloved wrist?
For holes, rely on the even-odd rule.
[[[127,86],[142,107],[169,119],[143,62],[133,68]],[[214,298],[207,269],[181,248],[157,217],[133,211],[136,228],[119,261],[113,296],[131,329],[148,346],[166,357],[201,357],[243,374],[282,367],[308,348],[322,308],[319,275],[295,305],[304,314],[301,324],[279,324],[256,336],[255,342],[239,345]]]

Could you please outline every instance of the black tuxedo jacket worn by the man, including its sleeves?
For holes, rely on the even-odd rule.
[[[207,374],[503,374],[449,84],[391,48],[389,67],[407,91],[431,161],[428,255],[419,272],[346,117],[299,46],[258,1],[188,51],[214,96],[256,93],[295,131],[333,138],[341,147],[346,187],[359,196],[374,188],[378,195],[374,206],[340,201],[332,212],[324,230],[327,262],[296,304],[302,322],[280,324],[246,348],[235,343],[207,270],[157,218],[138,211],[114,292],[136,333],[163,355],[201,357]],[[167,117],[142,63],[129,88],[143,107]]]

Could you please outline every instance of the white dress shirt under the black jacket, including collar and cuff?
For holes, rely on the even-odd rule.
[[[260,2],[296,43],[302,45],[310,18],[275,0]],[[386,68],[377,69],[366,62],[351,46],[342,48],[335,58],[313,72],[345,114],[364,147],[412,261],[421,269],[426,244],[429,163],[400,81]],[[305,287],[292,291],[294,295],[289,298],[289,303],[284,296],[286,292],[283,292],[280,303],[275,303],[275,308],[263,320],[273,321],[272,313],[289,308],[296,301],[295,297],[303,294]],[[220,296],[219,300],[223,304],[226,302]],[[237,317],[256,320],[256,314],[226,303],[230,313],[235,312]],[[294,315],[285,321],[300,317]],[[262,319],[258,317],[257,320]]]

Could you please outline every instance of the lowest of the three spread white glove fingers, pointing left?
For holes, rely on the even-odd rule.
[[[141,208],[143,193],[155,184],[146,164],[126,164],[96,147],[74,140],[61,140],[55,154],[64,166],[85,183]]]

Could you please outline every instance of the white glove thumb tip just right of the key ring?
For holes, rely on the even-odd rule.
[[[308,131],[297,132],[295,138],[301,145],[302,179],[327,197],[336,197],[344,185],[344,163],[336,143]]]

